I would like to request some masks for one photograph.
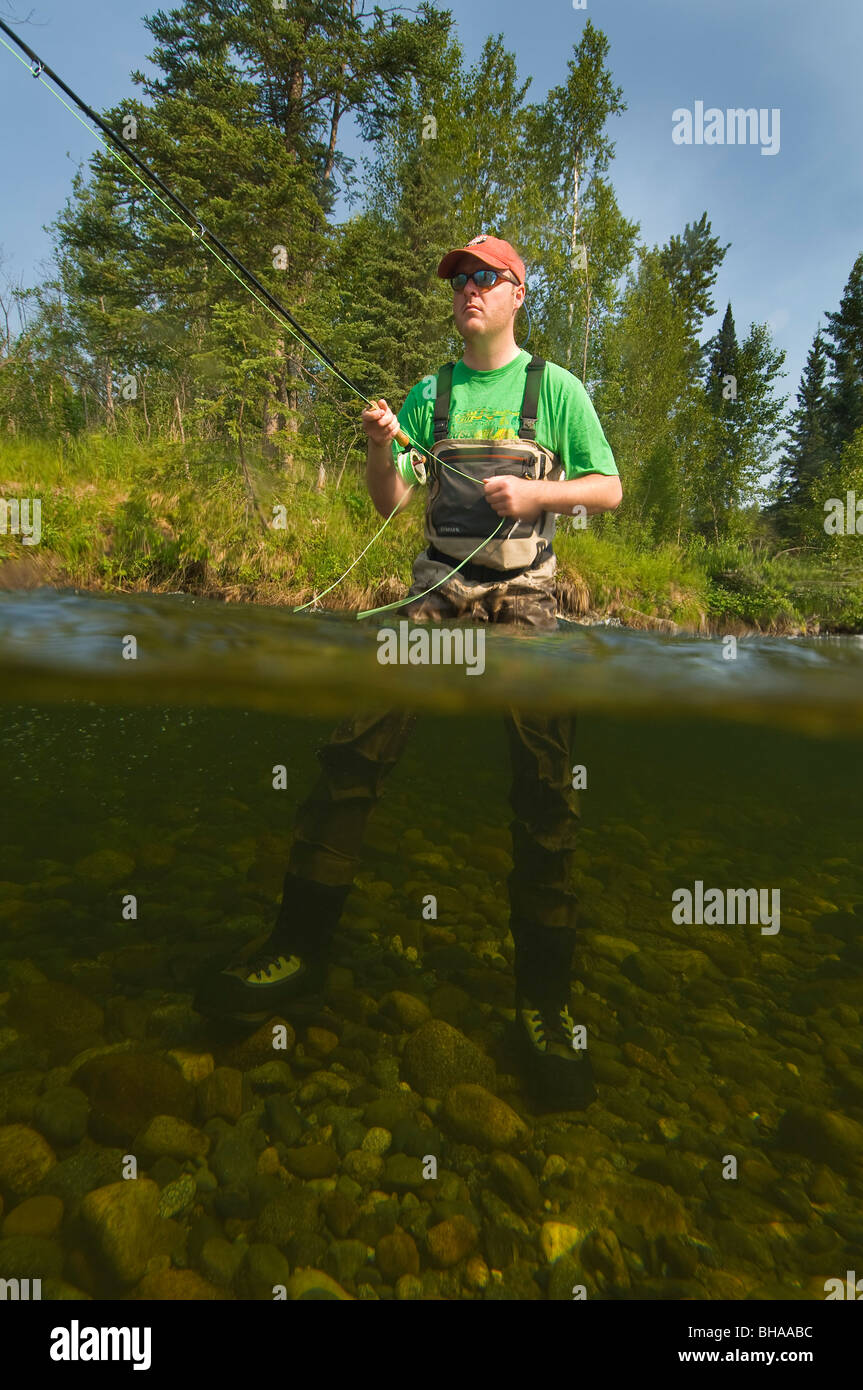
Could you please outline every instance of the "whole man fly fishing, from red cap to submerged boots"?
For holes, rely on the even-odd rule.
[[[421,456],[400,452],[399,431],[428,450],[428,543],[414,562],[410,595],[432,592],[404,613],[414,621],[553,630],[556,514],[613,510],[623,496],[617,467],[581,381],[516,343],[525,267],[513,246],[475,236],[443,257],[438,275],[453,288],[461,360],[438,373],[434,392],[434,378],[417,384],[397,418],[385,400],[363,411],[365,477],[382,516],[422,481]],[[327,948],[361,866],[368,815],[414,723],[414,714],[395,710],[347,719],[318,752],[322,773],[297,812],[277,924],[254,955],[203,983],[196,999],[203,1012],[257,1022],[320,988]],[[596,1093],[588,1052],[573,1045],[570,1015],[575,719],[510,710],[504,723],[520,1047],[532,1093],[578,1108]]]

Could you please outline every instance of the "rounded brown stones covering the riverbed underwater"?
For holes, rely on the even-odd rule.
[[[399,795],[386,845],[410,820]],[[600,849],[617,821],[585,833],[573,1015],[600,1099],[545,1116],[509,1041],[507,833],[481,819],[470,837],[445,821],[410,834],[402,878],[354,884],[324,1002],[290,1022],[243,1034],[192,1012],[171,937],[186,905],[203,915],[183,970],[267,923],[217,923],[199,901],[214,870],[179,842],[135,847],[174,902],[160,940],[90,942],[82,923],[81,959],[33,937],[32,959],[1,962],[0,1259],[64,1297],[571,1301],[582,1284],[743,1300],[795,1279],[819,1297],[812,1280],[863,1238],[856,922],[798,894],[775,941],[687,934],[656,885],[705,851],[682,833],[667,856],[621,835],[621,863]],[[220,867],[242,880],[225,877],[228,895],[278,858],[256,844],[227,847]],[[78,894],[121,869],[81,866]],[[418,924],[431,890],[441,920]]]

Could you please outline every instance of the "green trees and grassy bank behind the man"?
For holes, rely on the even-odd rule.
[[[646,246],[620,206],[591,19],[545,96],[434,4],[183,0],[146,28],[151,74],[103,118],[367,396],[399,409],[460,356],[446,250],[520,250],[517,338],[584,381],[624,485],[559,523],[564,610],[863,630],[863,250],[792,395],[769,327],[714,302],[734,228],[693,208]],[[0,582],[300,602],[338,578],[379,525],[356,395],[107,150],[51,236],[42,284],[0,275],[0,491],[42,498]],[[328,605],[397,596],[420,538],[414,506]]]

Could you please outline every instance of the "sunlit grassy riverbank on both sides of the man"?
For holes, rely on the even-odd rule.
[[[25,546],[0,532],[0,588],[307,602],[352,566],[382,524],[363,471],[345,470],[317,491],[317,470],[285,474],[260,457],[246,463],[243,471],[232,446],[142,446],[92,435],[3,441],[0,498],[39,498],[42,539]],[[400,598],[421,548],[416,502],[325,606]],[[616,617],[657,631],[863,631],[860,587],[799,553],[730,543],[642,549],[621,538],[614,518],[588,531],[563,521],[556,550],[560,612],[574,619]]]

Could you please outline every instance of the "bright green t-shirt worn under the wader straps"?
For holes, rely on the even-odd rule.
[[[457,361],[453,368],[450,396],[450,439],[516,439],[521,416],[521,400],[531,353],[524,349],[506,367],[495,371],[474,371]],[[399,424],[424,449],[435,442],[436,375],[425,377],[411,388],[399,410]],[[617,464],[609,446],[593,402],[571,371],[556,363],[546,363],[536,407],[536,443],[560,459],[564,477],[580,478],[585,473],[617,475]],[[399,461],[399,455],[403,461]],[[393,463],[404,482],[416,482],[407,452],[393,443]]]

